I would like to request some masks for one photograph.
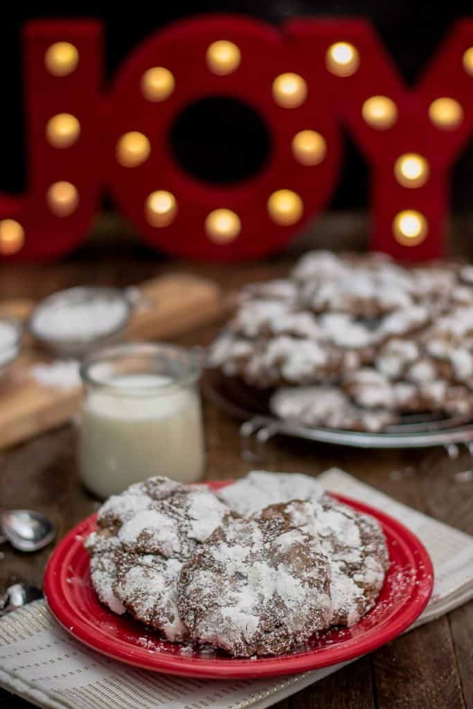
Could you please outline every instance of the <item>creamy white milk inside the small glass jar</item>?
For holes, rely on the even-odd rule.
[[[173,380],[158,374],[112,381],[113,389],[91,391],[84,402],[79,462],[85,486],[106,498],[154,475],[198,481],[204,471],[199,393],[179,384],[167,388]],[[150,391],[132,393],[135,387]]]

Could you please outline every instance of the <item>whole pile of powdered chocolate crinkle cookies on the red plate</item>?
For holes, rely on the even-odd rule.
[[[284,654],[356,623],[389,565],[377,520],[307,476],[265,471],[220,498],[162,477],[135,484],[104,504],[85,544],[113,613],[234,657]]]

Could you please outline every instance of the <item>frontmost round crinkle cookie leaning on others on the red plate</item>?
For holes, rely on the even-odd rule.
[[[230,520],[184,565],[179,612],[194,642],[284,654],[329,625],[328,558],[284,516]]]

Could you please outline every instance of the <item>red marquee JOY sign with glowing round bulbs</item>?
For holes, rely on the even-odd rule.
[[[24,30],[29,189],[0,195],[0,253],[54,257],[84,239],[108,189],[151,245],[250,258],[277,250],[328,199],[344,123],[372,172],[372,245],[405,259],[442,251],[448,176],[473,122],[473,21],[459,21],[413,89],[365,21],[250,18],[176,23],[133,50],[102,89],[101,24]],[[209,96],[250,105],[272,136],[238,184],[196,179],[169,145],[184,108]],[[231,135],[228,140],[231,140]]]

